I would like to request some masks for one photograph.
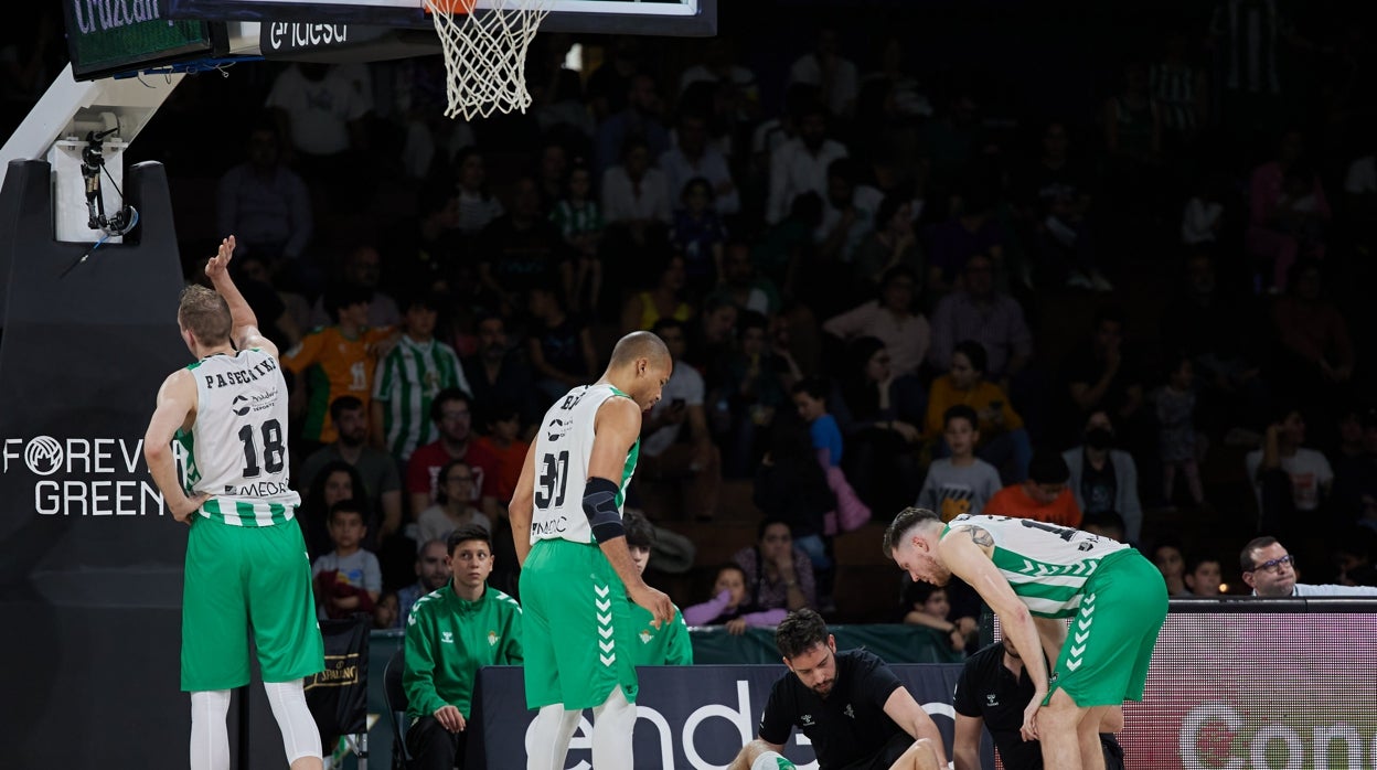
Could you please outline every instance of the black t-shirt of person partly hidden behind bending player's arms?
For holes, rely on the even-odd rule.
[[[1024,741],[1023,709],[1033,700],[1033,680],[1027,671],[1018,679],[1004,668],[1004,643],[996,642],[965,661],[956,683],[953,708],[961,716],[978,716],[1000,749],[1000,759],[1009,770],[1042,767],[1042,749],[1037,741]]]

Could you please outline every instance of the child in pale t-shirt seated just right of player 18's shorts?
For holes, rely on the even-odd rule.
[[[311,579],[321,618],[344,618],[355,612],[373,612],[383,591],[383,570],[377,556],[364,550],[368,536],[365,508],[357,500],[330,506],[329,530],[335,550],[315,559]]]

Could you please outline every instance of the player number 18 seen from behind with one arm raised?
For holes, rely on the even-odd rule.
[[[182,689],[191,693],[191,770],[229,770],[230,690],[249,682],[251,631],[292,770],[319,770],[303,678],[325,668],[311,563],[292,518],[286,380],[277,346],[230,280],[234,237],[187,287],[178,328],[196,362],[158,390],[143,455],[172,517],[190,525],[182,595]],[[172,441],[186,449],[185,485]]]

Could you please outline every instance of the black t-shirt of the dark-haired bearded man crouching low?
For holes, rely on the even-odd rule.
[[[903,729],[884,712],[884,703],[903,686],[883,660],[865,650],[836,654],[837,680],[822,698],[793,674],[770,690],[760,737],[784,745],[795,727],[812,741],[818,767],[843,767],[884,748]]]

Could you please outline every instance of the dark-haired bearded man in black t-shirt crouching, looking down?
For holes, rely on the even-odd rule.
[[[801,609],[775,631],[785,674],[770,690],[760,734],[731,770],[795,767],[781,752],[797,726],[812,741],[821,770],[938,770],[942,736],[883,660],[837,652],[822,616]]]

